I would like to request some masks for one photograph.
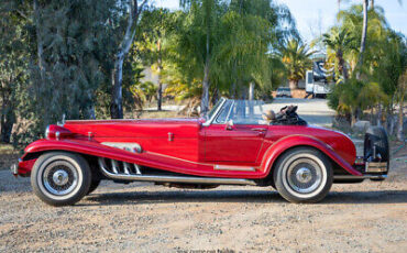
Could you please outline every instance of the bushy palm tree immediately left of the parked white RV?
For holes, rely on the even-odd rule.
[[[314,52],[310,52],[308,46],[297,38],[293,38],[286,45],[280,46],[279,55],[287,69],[289,88],[298,88],[298,80],[304,79],[306,69],[311,67],[310,56]]]

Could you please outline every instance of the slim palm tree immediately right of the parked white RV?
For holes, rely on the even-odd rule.
[[[333,51],[337,58],[337,69],[342,74],[343,81],[348,79],[348,68],[343,55],[351,51],[354,37],[346,29],[332,28],[329,33],[324,33],[323,43],[329,50]]]

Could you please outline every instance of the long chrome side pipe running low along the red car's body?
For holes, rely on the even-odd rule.
[[[253,180],[241,179],[241,178],[127,174],[127,173],[118,172],[119,169],[112,169],[112,172],[110,172],[105,163],[105,158],[99,157],[98,162],[99,162],[100,170],[103,173],[103,175],[107,176],[108,178],[117,179],[117,180],[210,184],[210,185],[252,185],[252,186],[256,185],[256,183]],[[113,164],[116,165],[114,162]]]

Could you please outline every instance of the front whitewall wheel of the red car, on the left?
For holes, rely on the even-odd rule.
[[[67,152],[41,155],[31,173],[35,195],[51,206],[74,205],[89,191],[90,183],[87,161]]]

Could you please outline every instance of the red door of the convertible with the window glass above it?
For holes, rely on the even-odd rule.
[[[255,163],[267,125],[258,123],[258,116],[257,118],[237,117],[239,103],[235,101],[232,103],[224,105],[218,118],[210,125],[205,127],[205,160]],[[240,110],[246,110],[246,108]],[[231,124],[230,120],[234,122]]]

